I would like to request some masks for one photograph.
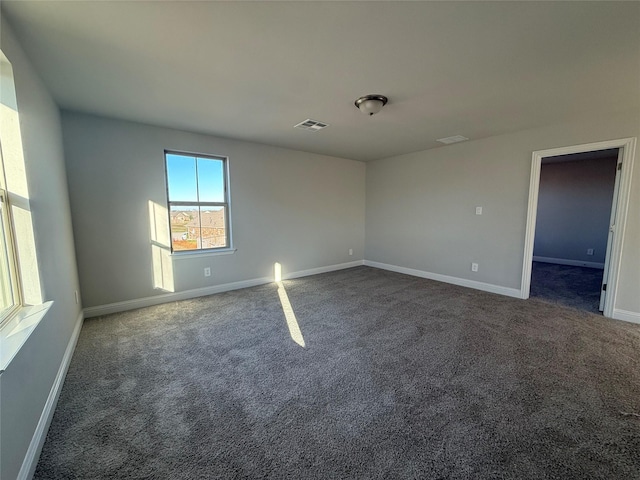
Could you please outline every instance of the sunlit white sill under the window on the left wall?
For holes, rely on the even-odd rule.
[[[53,305],[52,301],[42,305],[22,307],[18,313],[0,329],[0,373],[6,370],[13,357],[20,351],[29,336]]]

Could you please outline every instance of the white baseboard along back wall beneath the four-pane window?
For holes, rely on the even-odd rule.
[[[283,275],[283,279],[306,277],[308,275],[316,275],[318,273],[332,272],[335,270],[343,270],[345,268],[357,267],[362,265],[362,260],[355,262],[339,263],[336,265],[329,265],[326,267],[312,268],[309,270],[301,270],[298,272],[291,272]],[[182,292],[164,293],[160,295],[154,295],[153,297],[136,298],[134,300],[125,300],[123,302],[109,303],[106,305],[98,305],[96,307],[88,307],[84,309],[85,318],[97,317],[99,315],[108,315],[111,313],[124,312],[127,310],[134,310],[136,308],[150,307],[152,305],[160,305],[161,303],[175,302],[178,300],[187,300],[189,298],[204,297],[206,295],[213,295],[214,293],[228,292],[231,290],[238,290],[241,288],[255,287],[258,285],[264,285],[266,283],[272,283],[274,279],[272,277],[252,278],[249,280],[242,280],[239,282],[223,283],[221,285],[211,285],[209,287],[195,288],[192,290],[184,290]]]

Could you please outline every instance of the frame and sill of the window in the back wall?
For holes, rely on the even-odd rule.
[[[167,164],[167,155],[179,155],[183,157],[192,157],[195,159],[195,172],[196,172],[196,186],[199,185],[198,178],[198,159],[203,160],[216,160],[222,161],[222,185],[224,191],[224,202],[201,202],[199,198],[197,201],[183,201],[183,200],[171,200],[169,196],[169,171]],[[232,245],[232,235],[231,235],[231,195],[229,192],[229,157],[224,155],[212,155],[208,153],[195,153],[195,152],[185,152],[180,150],[165,150],[164,151],[164,178],[165,178],[165,188],[166,188],[166,196],[167,196],[167,220],[169,222],[169,244],[171,246],[171,254],[172,255],[202,255],[202,254],[215,254],[215,253],[223,253],[223,252],[231,252],[234,251]],[[198,191],[199,197],[199,191]],[[210,248],[194,248],[190,250],[176,250],[173,247],[173,232],[171,228],[171,207],[181,207],[181,206],[194,206],[197,205],[200,214],[202,207],[222,207],[224,211],[224,229],[225,229],[225,243],[226,245],[223,247],[210,247]],[[202,219],[200,219],[202,222]],[[200,226],[202,229],[202,224]],[[202,230],[201,230],[202,233]]]

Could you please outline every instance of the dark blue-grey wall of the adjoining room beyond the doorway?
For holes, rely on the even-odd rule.
[[[616,163],[617,157],[542,164],[534,260],[604,267]]]

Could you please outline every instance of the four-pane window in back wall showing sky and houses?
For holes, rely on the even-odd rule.
[[[231,247],[228,159],[165,152],[171,250]]]

